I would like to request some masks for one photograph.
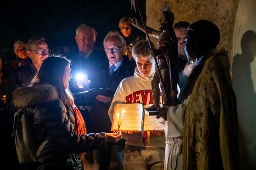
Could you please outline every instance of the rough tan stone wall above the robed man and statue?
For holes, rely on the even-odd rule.
[[[175,22],[184,20],[193,23],[199,19],[214,22],[220,29],[219,48],[225,48],[231,58],[233,28],[239,0],[172,0],[169,2],[175,15]],[[159,0],[146,1],[146,25],[159,29],[161,15]],[[153,41],[154,42],[154,41]]]

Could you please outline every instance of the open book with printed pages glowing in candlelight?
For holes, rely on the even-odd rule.
[[[151,105],[145,106],[150,107]],[[112,118],[111,131],[164,131],[164,119],[148,115],[144,105],[140,103],[116,104]]]

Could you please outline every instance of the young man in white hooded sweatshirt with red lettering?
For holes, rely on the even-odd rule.
[[[136,61],[134,76],[123,79],[119,84],[112,100],[109,115],[112,120],[114,106],[117,103],[153,104],[151,81],[155,73],[155,60],[150,55],[149,45],[146,40],[139,41],[132,50]],[[161,121],[161,120],[159,120]],[[141,133],[125,131],[124,169],[163,169],[165,135],[159,131],[152,131],[150,144],[143,144]]]

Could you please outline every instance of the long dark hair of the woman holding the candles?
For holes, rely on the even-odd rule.
[[[47,83],[55,86],[63,104],[72,107],[74,104],[72,93],[63,85],[63,75],[68,65],[70,61],[64,57],[48,57],[42,62],[33,83]]]

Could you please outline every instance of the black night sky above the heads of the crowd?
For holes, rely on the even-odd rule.
[[[145,0],[138,0],[145,18]],[[14,41],[45,37],[50,48],[74,46],[75,30],[84,23],[98,30],[102,44],[109,31],[119,31],[120,18],[139,18],[130,0],[2,0],[0,2],[0,48],[13,48]]]

